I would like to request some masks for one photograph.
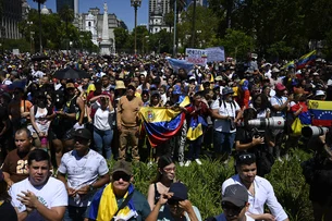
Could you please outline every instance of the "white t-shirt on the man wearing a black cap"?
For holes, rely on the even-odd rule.
[[[58,171],[67,175],[69,187],[78,189],[95,183],[99,175],[101,176],[109,172],[109,168],[104,158],[93,149],[83,158],[77,156],[76,150],[72,150],[63,155]],[[91,202],[90,199],[94,194],[91,192],[83,198],[78,196],[75,198],[70,197],[69,205],[86,207]]]

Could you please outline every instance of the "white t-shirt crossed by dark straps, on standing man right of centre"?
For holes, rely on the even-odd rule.
[[[218,109],[219,115],[222,115],[222,116],[229,115],[229,116],[233,118],[233,120],[234,120],[236,118],[236,111],[239,111],[239,106],[237,105],[237,102],[235,100],[232,102],[222,101],[222,103],[220,105],[220,99],[217,99],[212,103],[211,109],[212,110]],[[224,133],[236,132],[236,128],[231,131],[230,126],[231,126],[231,123],[229,120],[214,119],[214,130],[216,131],[224,132]]]

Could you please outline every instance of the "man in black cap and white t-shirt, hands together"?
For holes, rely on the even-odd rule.
[[[74,150],[64,154],[61,159],[58,179],[64,183],[69,194],[64,221],[83,221],[87,218],[87,207],[96,189],[110,182],[104,158],[89,149],[91,137],[87,128],[77,130]]]

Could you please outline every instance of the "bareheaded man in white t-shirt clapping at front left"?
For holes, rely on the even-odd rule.
[[[15,183],[9,193],[19,220],[61,221],[67,206],[64,184],[50,176],[50,157],[42,149],[28,156],[28,177]]]

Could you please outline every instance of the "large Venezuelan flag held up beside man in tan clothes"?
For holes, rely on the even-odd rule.
[[[185,120],[183,112],[168,108],[144,107],[140,108],[139,115],[151,147],[172,138],[181,130]]]

